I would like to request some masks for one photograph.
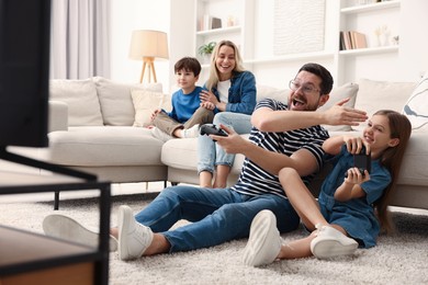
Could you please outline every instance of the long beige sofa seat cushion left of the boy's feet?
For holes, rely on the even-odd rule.
[[[162,141],[132,126],[69,127],[53,132],[48,160],[63,166],[161,166]]]

